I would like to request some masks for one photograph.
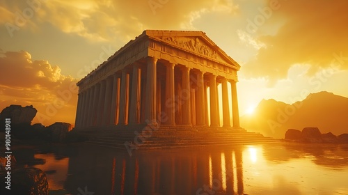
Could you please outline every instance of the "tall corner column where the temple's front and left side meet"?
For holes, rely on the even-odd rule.
[[[157,59],[149,57],[148,68],[146,71],[145,120],[149,120],[153,125],[157,125],[156,89],[157,89]]]

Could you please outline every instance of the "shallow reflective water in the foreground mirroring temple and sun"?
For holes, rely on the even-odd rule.
[[[348,194],[348,145],[271,143],[166,150],[79,143],[18,147],[50,194]]]

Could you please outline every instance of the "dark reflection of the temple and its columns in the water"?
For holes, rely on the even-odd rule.
[[[127,152],[79,150],[65,189],[78,194],[243,194],[242,149],[184,148]]]

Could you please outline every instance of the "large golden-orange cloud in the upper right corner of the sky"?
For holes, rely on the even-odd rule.
[[[243,66],[246,76],[267,77],[270,84],[275,84],[286,78],[287,70],[296,63],[310,64],[310,75],[331,63],[340,63],[340,69],[348,68],[348,1],[279,3],[280,8],[273,10],[269,19],[264,17],[264,24],[253,35],[265,47],[260,47],[255,59]],[[264,29],[277,20],[283,22],[278,31],[265,34]],[[346,61],[338,61],[334,54],[346,57]]]

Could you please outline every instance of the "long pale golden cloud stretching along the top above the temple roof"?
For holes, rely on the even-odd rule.
[[[49,22],[65,33],[76,33],[93,41],[115,38],[128,41],[145,29],[192,29],[191,23],[201,14],[232,14],[238,10],[232,0],[31,1],[38,2],[30,19],[34,26]],[[26,1],[10,4],[4,4],[3,8],[13,13],[18,8],[31,8]]]

